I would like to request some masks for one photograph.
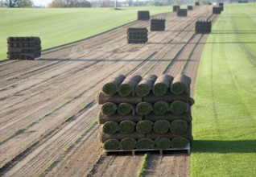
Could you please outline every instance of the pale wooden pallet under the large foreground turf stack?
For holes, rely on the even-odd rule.
[[[157,149],[147,149],[147,150],[104,150],[104,155],[107,156],[109,153],[113,152],[113,153],[121,153],[121,152],[131,152],[132,155],[135,155],[136,152],[138,151],[144,151],[144,152],[148,152],[148,151],[159,151],[159,154],[161,156],[163,156],[163,151],[174,151],[174,150],[187,150],[188,154],[190,154],[190,143],[188,143],[188,145],[183,148],[183,149],[178,149],[178,148],[170,148],[170,149],[165,149],[165,150],[157,150]]]

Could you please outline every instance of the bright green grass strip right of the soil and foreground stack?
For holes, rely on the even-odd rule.
[[[256,176],[256,4],[225,5],[200,60],[192,176]]]

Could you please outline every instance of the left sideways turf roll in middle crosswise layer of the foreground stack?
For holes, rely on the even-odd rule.
[[[98,113],[97,115],[97,120],[99,122],[99,124],[104,124],[106,121],[116,121],[116,122],[121,122],[121,121],[141,121],[142,120],[142,116],[140,115],[126,115],[126,116],[120,116],[118,113],[115,113],[114,115],[111,116],[106,116],[103,113]]]

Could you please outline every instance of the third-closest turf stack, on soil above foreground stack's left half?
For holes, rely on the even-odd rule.
[[[127,43],[147,43],[147,27],[129,27]]]

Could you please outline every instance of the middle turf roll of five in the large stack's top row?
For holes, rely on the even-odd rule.
[[[135,88],[136,95],[138,97],[146,97],[153,89],[156,78],[157,76],[155,75],[144,76]]]

